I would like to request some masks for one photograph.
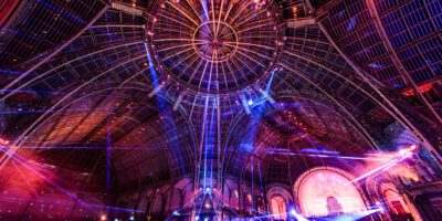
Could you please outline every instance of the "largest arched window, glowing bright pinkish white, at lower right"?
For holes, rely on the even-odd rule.
[[[305,217],[328,217],[366,210],[358,189],[338,170],[311,170],[299,178],[295,187]]]

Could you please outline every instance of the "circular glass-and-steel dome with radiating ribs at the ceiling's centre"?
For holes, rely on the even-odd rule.
[[[281,21],[273,1],[168,0],[158,8],[154,53],[186,87],[239,91],[262,78],[277,57]]]

